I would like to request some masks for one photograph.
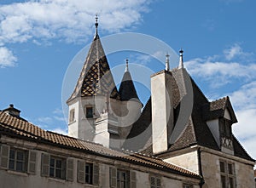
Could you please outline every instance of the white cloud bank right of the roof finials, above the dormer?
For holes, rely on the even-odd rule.
[[[196,77],[217,77],[225,84],[229,83],[231,77],[247,80],[256,78],[256,60],[252,58],[253,53],[243,52],[241,46],[234,44],[231,48],[224,49],[224,54],[195,58],[184,65]]]

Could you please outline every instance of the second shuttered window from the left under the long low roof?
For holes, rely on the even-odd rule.
[[[65,160],[59,157],[49,159],[49,177],[65,179]]]

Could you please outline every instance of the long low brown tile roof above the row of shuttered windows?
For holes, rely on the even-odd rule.
[[[125,153],[126,155],[124,155],[124,152],[114,151],[96,143],[78,140],[62,134],[46,131],[42,128],[38,128],[38,126],[33,125],[31,122],[26,122],[16,117],[12,117],[3,111],[0,111],[0,134],[6,134],[25,140],[32,140],[37,143],[41,142],[44,144],[65,147],[69,150],[84,151],[92,155],[100,155],[102,157],[109,157],[124,162],[131,162],[137,165],[156,168],[174,174],[201,179],[200,175],[190,172],[184,168],[177,167],[171,163],[164,162],[159,158],[132,152]]]

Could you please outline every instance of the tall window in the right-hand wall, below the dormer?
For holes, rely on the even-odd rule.
[[[236,175],[235,165],[231,162],[220,161],[220,180],[222,188],[235,188]]]

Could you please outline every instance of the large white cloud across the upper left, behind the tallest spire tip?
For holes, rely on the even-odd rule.
[[[148,1],[38,0],[0,6],[0,42],[24,43],[32,38],[57,38],[67,42],[88,39],[94,16],[100,30],[119,31],[137,24]],[[103,28],[103,29],[102,29]]]

